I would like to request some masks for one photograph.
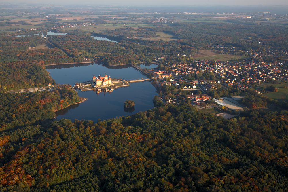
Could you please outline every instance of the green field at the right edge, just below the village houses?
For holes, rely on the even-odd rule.
[[[257,87],[255,87],[255,89],[256,90],[264,89],[266,91],[266,87],[269,87],[271,85],[276,87],[278,89],[278,92],[267,92],[267,93],[264,93],[263,95],[272,99],[279,100],[279,101],[288,100],[288,88],[284,88],[284,87],[288,87],[288,83],[282,83],[282,84],[262,83],[258,85]]]

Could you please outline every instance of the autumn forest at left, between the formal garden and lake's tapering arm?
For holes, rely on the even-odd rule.
[[[56,87],[54,92],[0,94],[0,132],[50,121],[55,117],[54,111],[79,99],[67,85]]]

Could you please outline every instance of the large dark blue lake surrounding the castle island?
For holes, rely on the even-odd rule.
[[[130,65],[105,66],[97,63],[88,63],[52,65],[46,66],[46,69],[56,83],[68,83],[70,85],[90,80],[93,75],[104,76],[105,73],[111,78],[125,80],[147,78]],[[97,95],[94,91],[81,92],[80,90],[77,90],[77,92],[80,97],[88,98],[88,100],[57,111],[57,119],[87,119],[96,122],[98,119],[131,115],[139,111],[152,109],[154,107],[153,97],[157,95],[156,88],[148,81],[130,83],[129,87],[115,89],[111,94],[101,92]],[[124,109],[125,100],[133,100],[135,102],[134,111]]]

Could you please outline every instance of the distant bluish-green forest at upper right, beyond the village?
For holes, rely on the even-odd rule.
[[[271,47],[282,50],[288,48],[287,26],[195,22],[173,23],[168,26],[145,29],[173,34],[183,43],[194,47],[226,44],[236,46],[241,50],[262,52]],[[243,41],[244,39],[252,41]],[[265,44],[257,43],[259,41]]]

